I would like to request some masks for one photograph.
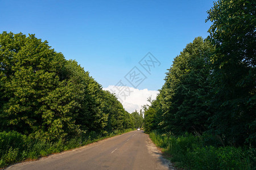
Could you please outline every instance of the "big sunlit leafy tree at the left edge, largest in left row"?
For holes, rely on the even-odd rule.
[[[35,35],[3,32],[0,40],[5,129],[48,140],[75,130],[75,87],[64,75],[63,54]]]

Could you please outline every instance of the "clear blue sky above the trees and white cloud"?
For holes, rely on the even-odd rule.
[[[147,78],[139,90],[159,90],[185,45],[208,36],[213,1],[12,1],[0,6],[0,32],[35,33],[66,59],[75,59],[103,87],[134,66]],[[139,61],[151,52],[161,63],[151,75]]]

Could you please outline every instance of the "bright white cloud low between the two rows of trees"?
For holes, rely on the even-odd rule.
[[[121,90],[118,93],[118,89]],[[142,105],[149,104],[147,98],[151,96],[152,100],[156,99],[156,95],[159,93],[154,90],[139,90],[137,88],[128,87],[128,86],[109,86],[103,88],[103,90],[108,90],[117,94],[117,98],[121,101],[123,108],[129,113],[134,112],[135,110],[139,111],[142,108]],[[130,92],[130,95],[129,95]],[[126,96],[125,96],[126,95]]]

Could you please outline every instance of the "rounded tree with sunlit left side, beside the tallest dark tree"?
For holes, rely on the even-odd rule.
[[[210,111],[206,97],[213,50],[208,41],[197,37],[174,59],[160,92],[164,117],[161,124],[166,131],[182,134],[207,129]]]

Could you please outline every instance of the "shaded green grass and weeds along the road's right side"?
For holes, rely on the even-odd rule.
[[[212,135],[150,133],[156,146],[174,163],[183,169],[256,169],[256,148],[222,146]]]

